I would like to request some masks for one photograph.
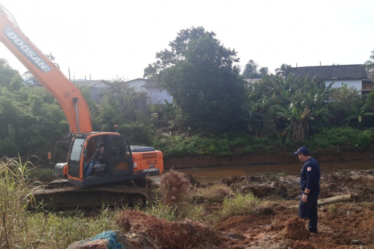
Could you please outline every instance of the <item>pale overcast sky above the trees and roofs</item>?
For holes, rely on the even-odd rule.
[[[240,65],[363,64],[374,50],[373,0],[1,0],[27,37],[71,79],[143,77],[181,29],[203,26]],[[0,58],[27,69],[0,44]]]

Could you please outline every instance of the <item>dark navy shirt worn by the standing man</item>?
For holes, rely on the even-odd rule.
[[[300,188],[304,191],[310,189],[310,194],[320,192],[321,170],[320,164],[314,158],[305,161],[301,170]]]

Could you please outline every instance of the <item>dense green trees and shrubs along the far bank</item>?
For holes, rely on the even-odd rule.
[[[362,98],[344,84],[285,78],[287,64],[269,75],[251,60],[240,73],[236,51],[203,27],[181,30],[170,47],[156,54],[144,76],[169,91],[173,102],[151,105],[144,114],[135,109],[137,95],[122,79],[110,80],[113,86],[100,105],[81,88],[94,130],[111,131],[119,124],[131,144],[171,156],[287,151],[301,144],[368,149],[372,144],[374,92]],[[263,78],[249,84],[244,77]],[[57,101],[44,88],[25,86],[20,73],[0,59],[0,154],[36,155],[46,162],[46,152],[68,133]]]

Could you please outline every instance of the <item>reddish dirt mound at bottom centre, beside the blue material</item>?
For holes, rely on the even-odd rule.
[[[215,229],[185,219],[182,222],[166,222],[138,211],[125,210],[118,216],[118,223],[131,233],[143,233],[160,248],[230,248],[233,240]]]

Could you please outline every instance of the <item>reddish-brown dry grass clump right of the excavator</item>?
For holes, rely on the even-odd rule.
[[[171,169],[164,174],[160,183],[160,193],[164,205],[177,207],[178,204],[188,199],[188,189],[190,182],[184,177],[182,172]]]

